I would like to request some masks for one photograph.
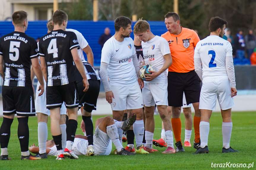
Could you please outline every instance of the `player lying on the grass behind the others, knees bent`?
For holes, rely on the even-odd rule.
[[[109,155],[112,150],[112,142],[117,149],[117,155],[135,155],[134,153],[128,152],[123,148],[120,143],[117,128],[122,128],[127,131],[136,120],[136,114],[132,114],[129,119],[125,122],[114,122],[111,116],[106,116],[96,120],[96,129],[93,135],[94,141],[94,152],[95,155]],[[88,140],[83,135],[76,135],[72,150],[76,155],[85,155],[87,153]],[[29,147],[30,152],[38,153],[39,147],[34,144]],[[57,148],[54,145],[53,140],[47,141],[46,148],[47,155],[58,155]]]

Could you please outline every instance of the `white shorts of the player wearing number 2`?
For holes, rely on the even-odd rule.
[[[218,98],[220,109],[227,110],[235,106],[231,98],[231,85],[228,78],[204,78],[200,93],[199,109],[215,110]]]

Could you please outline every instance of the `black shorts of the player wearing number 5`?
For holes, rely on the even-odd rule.
[[[35,116],[35,101],[32,86],[2,86],[3,115]]]

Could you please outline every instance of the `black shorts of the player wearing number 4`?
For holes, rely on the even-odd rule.
[[[72,109],[78,107],[79,97],[76,82],[66,85],[47,86],[46,87],[46,108],[61,108],[65,102],[66,108]]]

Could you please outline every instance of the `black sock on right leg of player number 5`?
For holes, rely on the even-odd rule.
[[[28,117],[18,118],[18,138],[20,141],[21,152],[28,151],[29,129],[28,129]]]

